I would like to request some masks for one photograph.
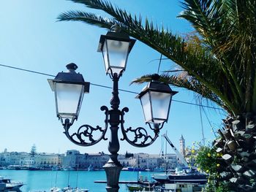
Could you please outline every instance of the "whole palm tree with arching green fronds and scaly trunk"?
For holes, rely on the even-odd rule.
[[[163,72],[161,81],[195,91],[225,109],[220,138],[219,180],[234,191],[255,191],[256,175],[256,1],[184,0],[178,15],[192,23],[195,33],[172,34],[163,26],[132,16],[103,0],[70,0],[110,15],[103,18],[88,12],[69,11],[59,20],[77,20],[102,28],[117,25],[175,62],[182,72]],[[147,82],[151,74],[134,82]]]

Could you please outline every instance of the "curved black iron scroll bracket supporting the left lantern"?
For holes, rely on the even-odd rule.
[[[65,120],[65,123],[63,124],[64,126],[64,134],[66,135],[66,137],[73,143],[75,143],[75,145],[80,145],[80,146],[91,146],[91,145],[95,145],[97,142],[99,142],[101,139],[107,140],[107,138],[105,138],[105,134],[106,131],[108,129],[108,107],[106,106],[102,106],[100,107],[100,110],[105,111],[105,128],[101,128],[100,126],[96,126],[96,128],[89,126],[89,125],[83,125],[80,126],[80,128],[78,128],[78,131],[74,134],[69,134],[69,128],[72,126],[72,123],[69,123],[69,119]],[[99,137],[99,139],[94,139],[93,138],[93,133],[94,131],[99,131],[101,132],[101,136]],[[85,139],[83,139],[84,137],[87,137],[89,139],[89,142],[86,142]]]

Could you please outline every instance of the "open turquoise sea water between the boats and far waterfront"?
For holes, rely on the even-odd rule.
[[[151,177],[150,172],[140,172],[144,177]],[[105,171],[29,171],[29,170],[0,170],[0,176],[13,181],[25,183],[20,188],[22,192],[50,191],[54,186],[59,188],[70,185],[72,188],[87,188],[90,192],[105,192],[106,183],[94,183],[95,180],[106,180]],[[121,172],[119,180],[135,181],[138,172]],[[128,191],[125,184],[119,184],[119,192]]]

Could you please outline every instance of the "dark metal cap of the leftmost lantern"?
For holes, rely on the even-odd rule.
[[[50,84],[50,88],[52,91],[54,91],[54,82],[59,83],[69,83],[69,84],[78,84],[78,85],[84,85],[84,92],[89,93],[90,88],[90,82],[85,82],[83,79],[83,75],[80,73],[75,72],[76,69],[78,69],[78,66],[76,64],[67,64],[67,72],[59,72],[54,80],[48,79],[48,82]]]

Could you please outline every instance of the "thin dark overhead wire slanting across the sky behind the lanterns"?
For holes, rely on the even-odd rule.
[[[23,72],[31,72],[31,73],[34,73],[34,74],[42,74],[42,75],[49,76],[49,77],[56,77],[53,74],[46,74],[46,73],[42,73],[42,72],[36,72],[36,71],[28,70],[28,69],[18,68],[18,67],[15,67],[15,66],[7,66],[7,65],[3,65],[3,64],[0,64],[0,66],[4,66],[4,67],[10,68],[10,69],[17,69],[17,70],[20,70],[20,71],[23,71]],[[101,87],[101,88],[110,88],[110,89],[112,89],[112,87],[106,86],[106,85],[99,85],[99,84],[95,84],[95,83],[91,83],[91,82],[90,82],[90,84],[94,85],[94,86]],[[138,94],[138,92],[127,91],[127,90],[124,90],[124,89],[118,89],[118,91]],[[213,110],[223,110],[223,109],[218,108],[218,107],[211,107],[211,106],[207,106],[207,105],[203,105],[203,104],[194,104],[194,103],[190,103],[190,102],[187,102],[187,101],[178,101],[176,99],[172,99],[172,101],[176,101],[176,102],[179,102],[179,103],[182,103],[182,104],[191,104],[191,105],[199,106],[199,107],[207,107],[207,108],[213,109]]]

